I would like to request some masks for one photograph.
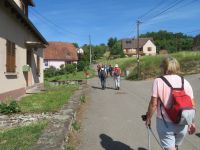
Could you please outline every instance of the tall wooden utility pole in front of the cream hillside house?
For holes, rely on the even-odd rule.
[[[140,48],[139,48],[139,28],[142,22],[137,20],[137,78],[140,79]]]

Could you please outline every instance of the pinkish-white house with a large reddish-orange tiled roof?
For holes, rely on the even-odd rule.
[[[49,42],[44,49],[44,67],[60,68],[64,64],[77,63],[77,48],[71,43]]]

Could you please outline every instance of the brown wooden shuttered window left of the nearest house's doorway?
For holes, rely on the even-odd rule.
[[[7,40],[6,41],[6,72],[14,73],[16,72],[15,63],[15,43]]]

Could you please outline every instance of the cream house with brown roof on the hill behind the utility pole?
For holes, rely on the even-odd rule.
[[[123,39],[122,49],[126,56],[137,54],[138,39]],[[156,46],[152,38],[139,38],[140,55],[156,55]]]

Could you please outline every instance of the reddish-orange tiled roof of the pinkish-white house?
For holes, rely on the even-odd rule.
[[[47,48],[44,49],[44,59],[77,61],[76,47],[71,43],[49,42]]]

